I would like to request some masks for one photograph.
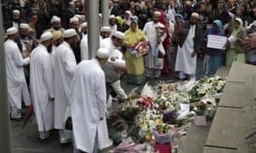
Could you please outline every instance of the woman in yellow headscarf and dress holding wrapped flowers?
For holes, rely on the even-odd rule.
[[[143,84],[145,82],[144,75],[144,61],[143,56],[136,57],[134,54],[130,53],[130,48],[134,48],[138,42],[146,40],[143,31],[141,31],[137,26],[137,21],[131,21],[131,27],[125,31],[125,60],[127,66],[127,82],[133,84]]]

